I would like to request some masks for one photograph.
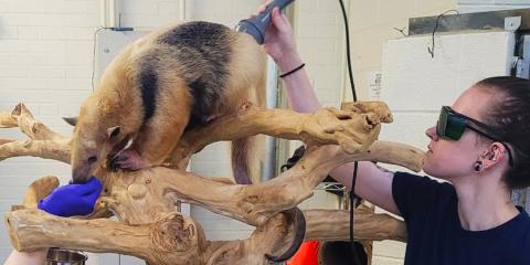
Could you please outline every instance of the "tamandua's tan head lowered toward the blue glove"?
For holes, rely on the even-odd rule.
[[[71,144],[72,180],[74,183],[83,183],[91,179],[110,150],[123,140],[121,128],[106,126],[107,123],[93,120],[83,114],[77,120],[66,121],[75,123]]]

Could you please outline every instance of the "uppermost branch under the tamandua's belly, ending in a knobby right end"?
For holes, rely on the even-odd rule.
[[[322,108],[315,114],[250,106],[186,134],[171,160],[183,169],[193,153],[214,141],[257,134],[298,139],[308,145],[340,145],[346,152],[354,153],[367,150],[377,139],[380,123],[390,121],[392,115],[384,103],[356,103],[347,110]]]

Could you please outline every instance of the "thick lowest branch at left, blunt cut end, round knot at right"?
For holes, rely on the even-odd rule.
[[[150,264],[200,264],[197,253],[204,247],[200,226],[178,213],[152,224],[131,226],[106,219],[76,220],[40,210],[19,210],[6,214],[6,224],[18,251],[59,246],[123,253]]]

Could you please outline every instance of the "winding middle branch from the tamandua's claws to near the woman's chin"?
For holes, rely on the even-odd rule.
[[[108,174],[110,197],[102,202],[130,224],[152,222],[177,201],[189,201],[251,225],[295,208],[336,167],[354,160],[385,161],[418,170],[423,152],[386,141],[375,141],[368,151],[348,155],[338,146],[321,146],[307,153],[290,170],[264,183],[234,186],[201,178],[182,170],[157,167]],[[119,181],[119,182],[118,182]],[[274,203],[271,203],[274,202]]]

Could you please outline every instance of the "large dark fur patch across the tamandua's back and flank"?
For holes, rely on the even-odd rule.
[[[222,104],[220,94],[229,81],[231,34],[225,25],[199,21],[173,28],[157,39],[183,66],[182,77],[193,95],[187,130],[203,125]]]

